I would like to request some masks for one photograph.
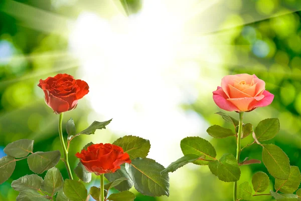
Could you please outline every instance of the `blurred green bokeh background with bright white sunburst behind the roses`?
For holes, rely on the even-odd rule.
[[[270,106],[246,113],[244,121],[257,125],[264,118],[279,118],[280,132],[267,143],[281,147],[290,158],[290,164],[300,168],[299,10],[298,0],[1,1],[0,157],[5,155],[3,148],[8,143],[22,138],[35,140],[34,151],[61,150],[58,115],[47,107],[43,92],[37,87],[39,79],[57,73],[68,73],[91,83],[90,96],[80,100],[76,110],[65,113],[64,122],[72,117],[81,130],[94,120],[123,115],[123,119],[116,120],[119,124],[110,124],[108,129],[97,131],[93,136],[73,140],[69,153],[73,168],[78,162],[74,154],[87,142],[113,142],[124,134],[136,133],[155,143],[152,150],[158,151],[153,152],[154,159],[165,154],[160,151],[168,151],[165,159],[159,159],[165,166],[181,157],[180,140],[189,135],[209,139],[218,157],[226,152],[235,155],[235,139],[212,139],[206,134],[206,126],[219,124],[231,128],[214,114],[220,109],[212,100],[212,91],[220,85],[223,76],[248,73],[264,80],[266,89],[275,98]],[[83,14],[88,14],[88,18],[83,18]],[[122,20],[116,16],[122,16]],[[129,34],[123,37],[125,32]],[[128,84],[131,81],[133,83]],[[156,94],[162,88],[165,90]],[[179,93],[169,94],[175,89]],[[175,107],[165,110],[171,104]],[[132,107],[124,109],[128,105]],[[132,110],[142,116],[147,115],[148,110],[155,110],[154,118],[164,116],[166,122],[156,121],[152,116],[156,123],[145,123],[147,127],[139,127],[133,121],[128,127],[112,128],[128,120],[126,117]],[[182,124],[182,117],[169,122],[178,110],[188,114],[183,117],[185,121],[191,122],[190,114],[196,116],[192,122],[196,129],[190,130]],[[229,114],[238,118],[234,112]],[[160,124],[155,131],[164,133],[165,140],[148,134],[154,124]],[[129,127],[137,129],[131,133]],[[179,129],[181,135],[174,133]],[[66,132],[64,134],[66,136]],[[169,138],[174,140],[172,145],[168,145],[166,139]],[[251,136],[242,140],[242,146],[249,142],[252,142]],[[261,159],[261,147],[246,148],[241,159],[245,157]],[[63,162],[57,167],[67,178]],[[241,170],[239,182],[251,181],[256,171],[268,173],[263,164],[242,166]],[[18,161],[11,178],[0,185],[0,200],[16,200],[18,192],[11,188],[11,182],[32,173],[26,160]],[[137,195],[135,200],[232,200],[233,183],[218,180],[206,166],[189,164],[170,177],[170,197],[143,196],[132,189]],[[97,179],[93,177],[87,186],[98,185]],[[269,189],[273,189],[273,182],[270,176]],[[253,200],[273,199],[258,196]]]

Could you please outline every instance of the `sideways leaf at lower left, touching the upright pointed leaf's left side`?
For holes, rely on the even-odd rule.
[[[26,189],[39,190],[42,186],[43,178],[37,174],[22,176],[12,182],[14,190],[22,191]]]

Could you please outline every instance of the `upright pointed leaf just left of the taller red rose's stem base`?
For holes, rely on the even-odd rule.
[[[42,190],[54,194],[64,185],[64,179],[60,170],[56,167],[49,169],[42,183]]]

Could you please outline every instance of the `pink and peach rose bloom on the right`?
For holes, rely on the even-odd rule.
[[[251,111],[271,104],[273,99],[274,95],[265,90],[265,82],[249,74],[227,75],[213,92],[215,104],[227,111]]]

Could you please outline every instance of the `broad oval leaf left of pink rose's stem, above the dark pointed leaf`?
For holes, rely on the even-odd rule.
[[[195,154],[206,160],[215,160],[216,151],[212,144],[201,137],[186,137],[181,140],[181,149],[184,155]],[[196,160],[197,165],[208,165],[209,161]]]

